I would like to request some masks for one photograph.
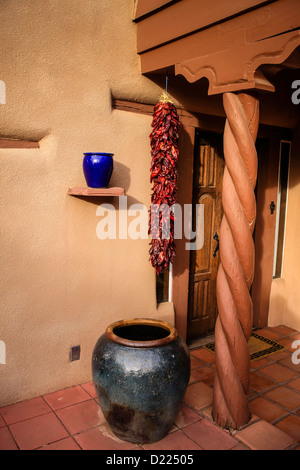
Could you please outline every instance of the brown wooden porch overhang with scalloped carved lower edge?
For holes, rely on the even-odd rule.
[[[208,95],[259,89],[274,92],[259,67],[290,66],[300,45],[296,0],[188,0],[169,5],[137,24],[142,74],[174,67],[194,83],[209,82]],[[172,18],[172,20],[170,20]],[[155,31],[155,34],[153,32]],[[269,78],[267,78],[269,77]]]

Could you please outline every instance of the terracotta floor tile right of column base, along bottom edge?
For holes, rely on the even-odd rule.
[[[266,421],[257,421],[235,434],[252,450],[283,450],[295,440]]]

